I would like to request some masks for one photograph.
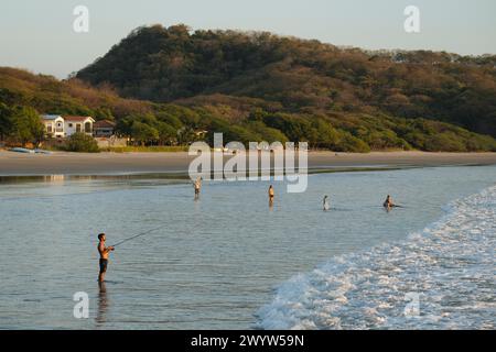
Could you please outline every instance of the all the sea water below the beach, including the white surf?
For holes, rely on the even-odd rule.
[[[274,183],[270,207],[262,182],[195,201],[161,177],[2,178],[0,329],[494,329],[495,182],[495,166],[319,174],[304,194]],[[153,229],[99,287],[97,234]]]

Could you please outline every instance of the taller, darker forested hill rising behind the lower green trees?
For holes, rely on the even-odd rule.
[[[222,94],[282,112],[424,118],[496,136],[495,65],[496,56],[364,52],[270,33],[153,25],[134,30],[77,78],[157,102]]]

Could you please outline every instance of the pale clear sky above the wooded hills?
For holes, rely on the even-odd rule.
[[[89,11],[87,33],[73,29],[77,6]],[[420,33],[403,29],[408,6],[420,10]],[[0,66],[66,78],[133,29],[157,23],[270,31],[369,50],[496,54],[495,0],[2,0]]]

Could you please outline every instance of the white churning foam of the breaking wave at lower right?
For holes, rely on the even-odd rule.
[[[405,242],[294,276],[259,310],[258,326],[494,329],[495,250],[496,186],[452,202],[440,221]]]

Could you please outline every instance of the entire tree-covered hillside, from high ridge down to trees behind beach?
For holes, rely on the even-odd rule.
[[[496,151],[495,63],[154,25],[67,80],[0,68],[0,139],[19,141],[29,125],[20,121],[36,112],[114,119],[120,134],[145,145],[223,132],[225,142],[347,152]]]

